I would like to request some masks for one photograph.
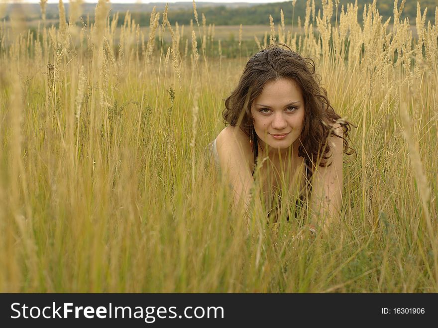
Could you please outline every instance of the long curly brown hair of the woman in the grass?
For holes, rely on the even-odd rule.
[[[321,87],[321,79],[315,73],[315,62],[302,57],[282,43],[272,44],[260,50],[246,63],[237,87],[225,100],[225,109],[222,112],[225,125],[238,125],[249,136],[254,122],[251,114],[252,102],[260,95],[266,82],[283,78],[292,79],[300,86],[305,103],[298,155],[304,157],[307,162],[310,161],[312,167],[315,167],[318,159],[319,166],[330,166],[331,162],[327,164],[330,151],[327,142],[329,135],[343,139],[345,154],[356,153],[349,147],[347,139],[351,126],[357,126],[341,119],[331,107],[327,91]],[[334,133],[331,127],[333,121],[342,126],[343,136]]]

